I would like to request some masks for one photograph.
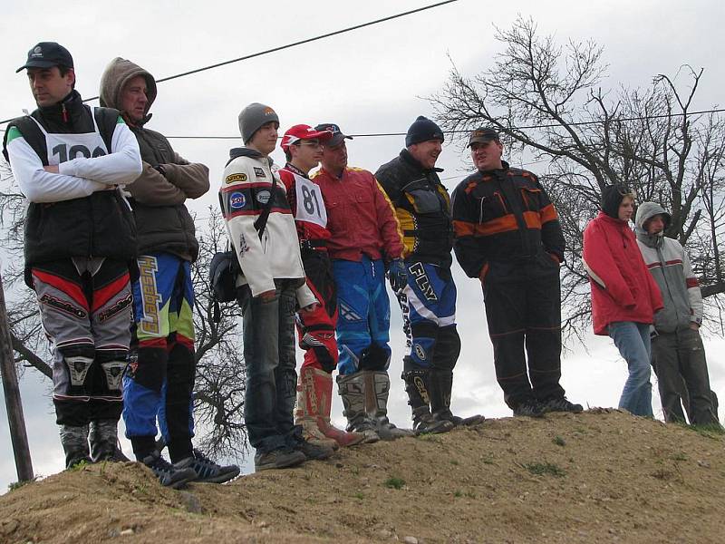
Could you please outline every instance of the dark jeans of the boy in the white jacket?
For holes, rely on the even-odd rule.
[[[295,287],[279,282],[275,297],[252,297],[240,289],[247,365],[244,419],[249,443],[269,452],[289,442],[295,432]]]

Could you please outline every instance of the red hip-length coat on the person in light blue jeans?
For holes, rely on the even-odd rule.
[[[652,324],[662,309],[660,287],[644,264],[632,228],[600,211],[584,231],[584,266],[592,288],[594,334],[614,321]]]

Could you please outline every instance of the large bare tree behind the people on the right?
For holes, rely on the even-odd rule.
[[[466,77],[454,65],[430,102],[444,130],[491,126],[509,153],[544,163],[537,173],[567,244],[565,334],[581,338],[591,317],[582,232],[612,183],[672,211],[666,234],[687,248],[708,311],[722,326],[725,124],[716,113],[691,112],[703,70],[684,65],[673,78],[656,75],[646,89],[603,90],[607,65],[592,41],[556,44],[521,17],[496,38],[504,51],[491,68]]]

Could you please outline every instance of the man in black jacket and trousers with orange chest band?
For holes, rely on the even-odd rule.
[[[473,131],[469,148],[478,171],[453,191],[454,248],[483,287],[504,400],[514,415],[581,412],[559,384],[565,241],[556,209],[535,174],[501,160],[497,131]]]

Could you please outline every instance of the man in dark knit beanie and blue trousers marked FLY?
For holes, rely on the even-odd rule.
[[[408,129],[405,149],[375,172],[403,234],[405,259],[392,261],[388,274],[410,350],[403,357],[401,378],[417,432],[446,432],[460,423],[483,419],[462,420],[450,412],[460,338],[455,321],[456,284],[450,274],[450,199],[438,177],[442,170],[435,166],[442,143],[440,127],[420,116]]]

